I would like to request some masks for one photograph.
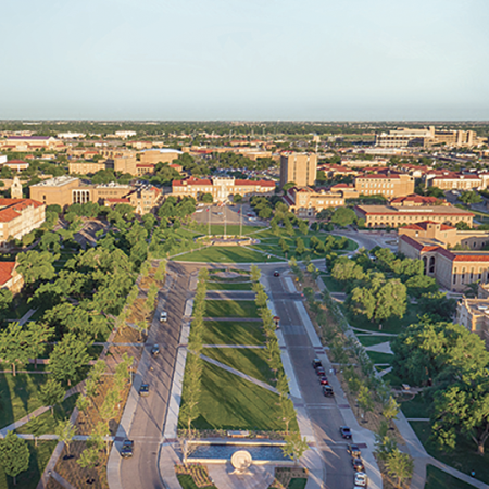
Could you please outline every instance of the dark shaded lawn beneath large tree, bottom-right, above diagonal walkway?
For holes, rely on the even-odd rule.
[[[478,455],[476,444],[465,437],[457,437],[456,449],[452,452],[438,450],[435,442],[429,440],[431,434],[429,423],[411,422],[411,426],[431,456],[464,474],[471,475],[471,472],[475,471],[477,479],[489,484],[489,453],[487,451],[484,456]],[[446,487],[451,488],[452,486]]]

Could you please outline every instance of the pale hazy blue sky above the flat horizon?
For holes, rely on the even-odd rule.
[[[488,0],[16,0],[0,118],[489,120]]]

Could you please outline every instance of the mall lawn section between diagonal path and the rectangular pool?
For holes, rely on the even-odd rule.
[[[185,405],[186,390],[181,404]],[[284,431],[278,396],[237,375],[204,362],[197,429],[250,429]],[[181,413],[181,408],[180,408]],[[179,421],[179,428],[186,428]],[[297,422],[290,429],[298,429]]]

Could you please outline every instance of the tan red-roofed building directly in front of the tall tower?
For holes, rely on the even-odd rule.
[[[284,196],[284,202],[298,217],[314,217],[323,209],[344,205],[344,198],[341,192],[292,187]]]

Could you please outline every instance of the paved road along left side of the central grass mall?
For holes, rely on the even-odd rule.
[[[134,456],[121,462],[121,481],[127,489],[162,487],[158,471],[158,455],[191,269],[191,265],[168,263],[168,271],[173,272],[174,279],[166,299],[159,301],[155,319],[150,328],[147,348],[141,358],[141,362],[148,362],[150,368],[143,379],[135,378],[136,387],[142,381],[150,385],[150,396],[139,399],[128,434],[128,438],[135,440]],[[168,321],[161,325],[158,318],[163,308],[168,313]],[[156,359],[151,358],[149,353],[153,343],[160,344],[161,353]]]

